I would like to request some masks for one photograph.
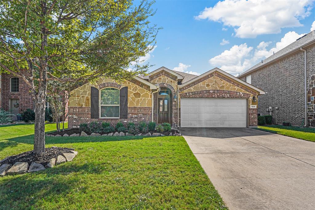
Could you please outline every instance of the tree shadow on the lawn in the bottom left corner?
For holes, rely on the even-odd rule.
[[[77,175],[102,172],[104,169],[91,163],[69,162],[34,173],[4,176],[0,178],[1,209],[33,209],[38,202],[58,201],[74,189],[84,193],[85,189],[78,186]],[[76,174],[67,176],[70,173]]]

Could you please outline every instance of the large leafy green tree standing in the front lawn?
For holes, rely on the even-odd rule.
[[[154,14],[151,6],[146,0],[138,5],[131,0],[0,2],[0,72],[15,74],[30,88],[34,153],[45,152],[49,81],[121,81],[146,71],[148,65],[135,61],[155,45],[158,29],[148,21]]]

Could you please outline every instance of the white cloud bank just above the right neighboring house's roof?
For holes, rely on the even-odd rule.
[[[270,41],[262,41],[255,48],[247,46],[246,43],[234,45],[229,50],[225,50],[220,55],[211,58],[209,63],[235,75],[249,69],[260,60],[271,56],[273,52],[278,52],[303,35],[304,34],[297,34],[295,31],[290,31],[286,33],[279,42],[273,45],[273,47]],[[268,47],[269,49],[267,49]]]

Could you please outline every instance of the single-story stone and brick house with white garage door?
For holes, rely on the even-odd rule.
[[[265,92],[219,68],[200,76],[158,68],[122,83],[99,78],[70,90],[68,127],[91,121],[172,127],[255,127]],[[259,96],[261,97],[261,96]]]

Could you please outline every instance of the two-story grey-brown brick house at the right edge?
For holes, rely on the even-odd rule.
[[[259,98],[258,114],[271,114],[272,122],[277,124],[315,127],[315,31],[238,78],[266,92]]]

